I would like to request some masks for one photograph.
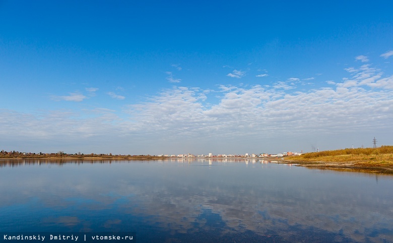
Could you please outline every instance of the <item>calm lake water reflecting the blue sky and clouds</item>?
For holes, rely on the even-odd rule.
[[[392,189],[389,175],[261,160],[3,163],[0,231],[136,232],[137,242],[393,242]]]

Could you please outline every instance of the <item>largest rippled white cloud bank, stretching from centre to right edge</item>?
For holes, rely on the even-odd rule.
[[[387,80],[386,80],[387,82]],[[282,87],[285,84],[279,83]],[[224,96],[207,107],[198,98],[202,90],[174,88],[153,97],[151,101],[134,106],[139,110],[135,117],[139,129],[166,134],[166,138],[182,135],[224,138],[231,136],[285,135],[303,132],[345,132],[352,120],[351,129],[373,126],[368,124],[373,115],[383,111],[382,106],[393,105],[392,92],[379,92],[361,88],[339,86],[336,90],[322,88],[309,92],[286,94],[274,89],[254,86],[248,89],[220,86]],[[340,105],[338,105],[340,104]],[[134,113],[135,111],[130,111]],[[388,125],[393,114],[382,112],[381,126]],[[381,114],[379,113],[379,116]],[[146,121],[149,121],[146,123]],[[367,125],[368,124],[368,125]],[[230,133],[228,133],[230,131]],[[249,137],[251,139],[251,137]]]

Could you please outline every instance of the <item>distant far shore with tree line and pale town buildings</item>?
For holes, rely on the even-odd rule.
[[[194,155],[194,154],[159,154],[159,155],[126,155],[126,154],[83,154],[81,152],[75,154],[64,153],[63,151],[58,151],[57,153],[32,153],[32,152],[19,152],[19,151],[5,151],[2,150],[0,152],[1,157],[20,157],[20,158],[40,158],[40,157],[160,157],[160,158],[268,158],[268,157],[285,157],[285,156],[297,156],[302,155],[302,152],[283,152],[278,154],[268,154],[268,153],[260,153],[260,154],[201,154],[201,155]]]

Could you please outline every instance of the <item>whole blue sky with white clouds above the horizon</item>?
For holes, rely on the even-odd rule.
[[[0,0],[0,150],[393,145],[391,1]]]

